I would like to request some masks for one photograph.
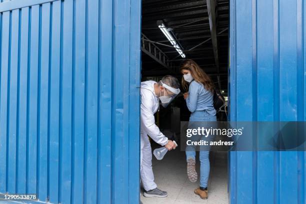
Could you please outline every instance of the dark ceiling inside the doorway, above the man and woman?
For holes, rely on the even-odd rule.
[[[179,76],[177,70],[183,58],[169,46],[170,42],[157,27],[156,21],[162,20],[167,28],[172,28],[186,58],[196,61],[216,86],[227,89],[228,0],[214,2],[207,9],[206,0],[142,0],[142,33],[146,37],[142,45],[153,42],[145,44],[147,50],[148,46],[152,50],[154,44],[166,55],[168,63],[165,67],[152,55],[142,52],[142,76]],[[215,11],[214,16],[208,15],[210,10]],[[213,31],[210,31],[209,18],[215,23]]]

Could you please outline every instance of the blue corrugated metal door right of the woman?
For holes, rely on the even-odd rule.
[[[230,0],[230,120],[306,120],[306,4]],[[231,204],[304,204],[305,152],[231,152]]]

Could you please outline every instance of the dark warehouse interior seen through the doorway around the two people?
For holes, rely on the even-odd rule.
[[[219,121],[227,118],[228,78],[228,0],[142,0],[141,81],[159,81],[164,75],[181,81],[179,66],[184,59],[194,60],[223,93],[225,106],[218,112]],[[169,37],[162,31],[165,28]],[[176,47],[174,47],[176,46]],[[178,50],[177,50],[178,48]],[[180,52],[179,52],[180,51]],[[181,90],[183,91],[183,90]],[[184,91],[185,92],[185,91]],[[188,111],[182,95],[155,114],[155,122],[168,137],[179,142],[180,121],[188,121]],[[152,150],[160,146],[151,141]],[[201,200],[186,174],[185,152],[177,148],[162,160],[152,157],[157,188],[167,191],[166,198],[144,198],[143,204],[228,204],[227,152],[213,151],[209,155],[210,175],[208,199]],[[199,174],[198,153],[196,168]],[[143,191],[143,189],[141,189]]]

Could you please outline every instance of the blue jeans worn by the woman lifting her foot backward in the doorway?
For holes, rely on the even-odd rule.
[[[210,115],[206,111],[195,111],[191,113],[189,118],[190,122],[200,122],[200,121],[216,121],[216,116]],[[205,123],[204,123],[205,124]],[[210,127],[206,127],[210,128]],[[204,137],[204,136],[202,136]],[[201,140],[204,138],[201,138]],[[207,138],[206,138],[207,140]],[[195,147],[187,146],[186,147],[186,160],[193,159],[195,160]],[[208,183],[208,176],[209,176],[209,146],[206,147],[204,150],[202,148],[199,152],[199,160],[200,160],[200,187],[206,188]]]

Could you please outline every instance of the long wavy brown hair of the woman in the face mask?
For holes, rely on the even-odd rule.
[[[214,91],[214,84],[212,83],[212,80],[210,79],[210,77],[198,66],[198,64],[191,60],[191,59],[186,59],[182,62],[181,66],[180,66],[180,72],[182,72],[183,69],[189,70],[191,76],[193,77],[193,79],[198,82],[203,84],[204,88],[208,91],[210,91],[211,93],[213,93]],[[186,82],[184,80],[184,78],[182,77],[181,79],[181,84],[182,87],[184,88],[184,90],[188,90],[188,82]]]

